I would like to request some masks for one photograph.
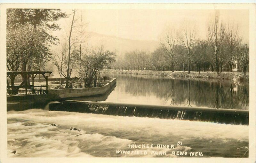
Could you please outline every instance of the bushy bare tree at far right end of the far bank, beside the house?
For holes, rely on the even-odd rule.
[[[242,68],[242,73],[246,74],[246,68],[249,65],[249,47],[247,44],[240,44],[237,48],[236,61]]]

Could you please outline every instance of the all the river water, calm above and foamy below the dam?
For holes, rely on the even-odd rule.
[[[91,100],[248,109],[248,86],[156,76],[111,76],[117,77],[116,88],[108,96]],[[51,126],[52,123],[56,126]],[[7,127],[9,157],[248,157],[246,125],[42,108],[8,111]],[[182,144],[177,144],[179,141]],[[129,148],[135,144],[153,144],[153,147]],[[157,144],[170,147],[157,148]],[[120,153],[120,150],[130,153]]]

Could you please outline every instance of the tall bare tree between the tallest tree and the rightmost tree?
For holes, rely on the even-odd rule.
[[[228,66],[230,72],[232,72],[233,64],[235,62],[235,50],[238,44],[241,42],[241,38],[238,36],[238,26],[234,26],[234,24],[228,24],[226,30],[226,41],[228,44]]]

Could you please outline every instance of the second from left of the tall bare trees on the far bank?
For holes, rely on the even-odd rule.
[[[191,23],[183,23],[180,32],[180,44],[184,47],[184,55],[188,62],[188,74],[190,74],[191,57],[195,53],[196,27]]]

